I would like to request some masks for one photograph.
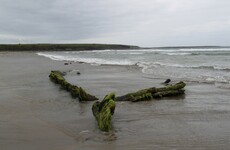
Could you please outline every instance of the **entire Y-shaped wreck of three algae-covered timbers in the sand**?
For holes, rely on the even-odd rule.
[[[74,98],[78,98],[79,101],[98,100],[96,96],[87,93],[82,87],[78,87],[67,82],[61,71],[51,71],[49,77],[51,81],[55,82],[56,84],[60,84],[63,89],[70,92],[71,95]],[[94,102],[92,106],[92,112],[97,120],[100,130],[108,132],[112,130],[112,115],[115,111],[116,101],[139,102],[182,95],[185,92],[185,86],[186,84],[181,81],[173,85],[167,85],[160,88],[152,87],[148,89],[142,89],[118,97],[115,96],[115,93],[110,93],[106,95],[101,102]]]

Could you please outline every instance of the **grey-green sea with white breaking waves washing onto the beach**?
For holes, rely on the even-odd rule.
[[[58,61],[138,66],[146,78],[170,78],[230,88],[230,48],[109,49],[37,54]]]

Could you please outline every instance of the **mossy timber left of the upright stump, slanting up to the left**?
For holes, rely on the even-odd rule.
[[[98,98],[88,94],[83,88],[67,82],[60,71],[51,71],[49,77],[51,81],[60,84],[63,89],[69,91],[74,98],[78,98],[80,101],[98,100]]]

